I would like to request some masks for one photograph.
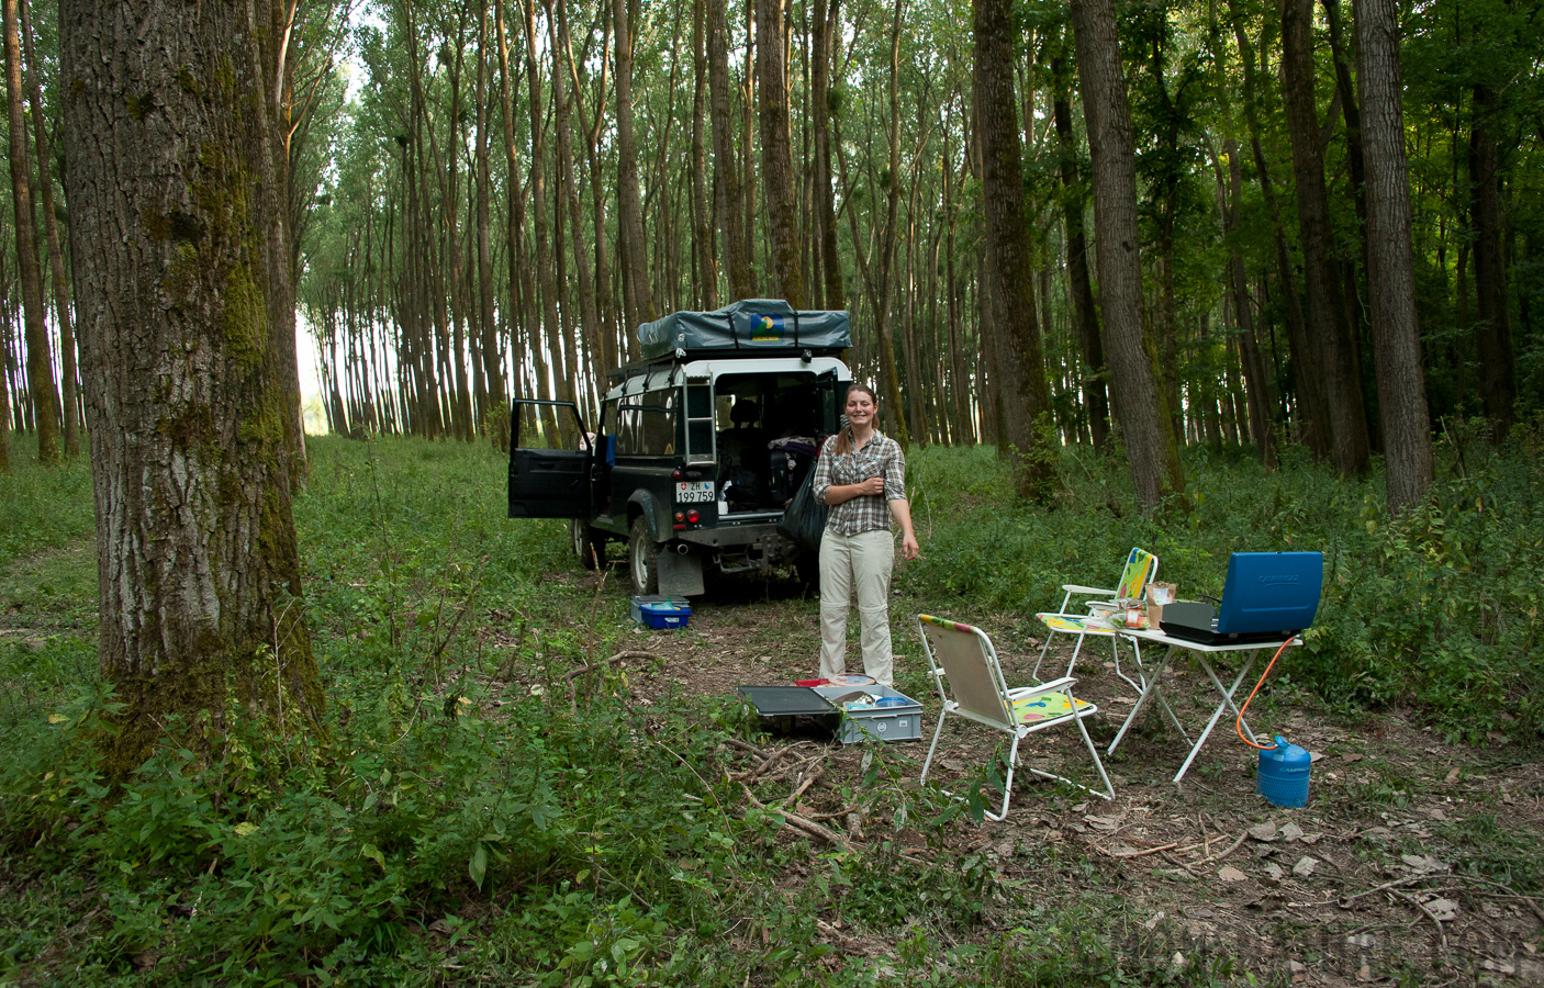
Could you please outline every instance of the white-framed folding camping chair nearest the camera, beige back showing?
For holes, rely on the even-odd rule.
[[[933,670],[933,684],[939,689],[943,710],[939,713],[939,726],[933,732],[933,744],[928,747],[928,760],[922,764],[922,778],[928,781],[928,769],[933,767],[933,753],[939,747],[943,735],[943,721],[951,713],[963,716],[977,724],[985,724],[993,730],[1013,735],[1013,749],[1008,752],[1008,780],[1002,786],[1002,810],[987,812],[987,818],[997,821],[1008,815],[1008,800],[1013,798],[1013,770],[1019,764],[1019,743],[1028,735],[1076,724],[1082,743],[1093,758],[1093,767],[1104,780],[1104,792],[1089,789],[1067,777],[1028,769],[1041,778],[1053,778],[1078,789],[1092,792],[1104,800],[1115,798],[1110,777],[1104,773],[1104,763],[1099,752],[1093,749],[1089,729],[1082,726],[1084,718],[1093,716],[1099,709],[1087,701],[1078,699],[1072,693],[1076,682],[1072,676],[1064,676],[1051,682],[1033,687],[1008,689],[1002,676],[1002,665],[997,664],[997,651],[991,647],[991,639],[980,628],[968,624],[945,621],[929,614],[917,614],[917,634],[922,636],[922,650],[928,656],[928,667]],[[942,668],[940,668],[942,665]],[[948,679],[948,684],[945,684]]]

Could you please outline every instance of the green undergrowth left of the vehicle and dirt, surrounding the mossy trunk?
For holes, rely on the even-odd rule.
[[[1075,889],[1047,905],[951,849],[971,806],[909,786],[909,752],[865,763],[865,848],[787,840],[727,775],[729,743],[760,741],[746,707],[642,704],[636,673],[599,665],[639,642],[625,591],[594,590],[564,523],[503,517],[491,451],[312,440],[310,465],[295,516],[320,735],[233,707],[215,764],[165,747],[110,792],[94,628],[5,610],[26,634],[0,638],[0,985],[1249,980],[1132,936],[1081,860],[1022,849]],[[90,485],[65,488],[68,517],[0,560],[15,601],[39,559],[93,556]],[[90,580],[60,587],[94,605]],[[832,949],[851,936],[863,949]]]

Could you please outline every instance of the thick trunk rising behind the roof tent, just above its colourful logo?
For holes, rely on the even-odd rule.
[[[787,73],[783,65],[783,0],[757,0],[757,73],[761,82],[761,181],[778,293],[804,307],[800,272],[798,207],[794,202],[794,137],[789,133]]]

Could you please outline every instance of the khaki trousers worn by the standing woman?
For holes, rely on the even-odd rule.
[[[889,574],[896,568],[896,539],[888,528],[820,539],[820,675],[848,670],[848,604],[858,594],[863,673],[880,685],[894,685],[889,647]]]

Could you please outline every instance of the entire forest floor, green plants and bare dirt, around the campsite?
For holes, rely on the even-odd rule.
[[[1519,442],[1454,440],[1400,526],[1303,463],[1198,455],[1189,511],[1139,519],[1118,465],[1068,454],[1038,513],[990,451],[916,452],[923,559],[892,627],[926,736],[919,610],[988,630],[1024,679],[1033,611],[1132,543],[1181,591],[1215,591],[1231,548],[1331,560],[1320,634],[1251,707],[1322,755],[1306,807],[1254,795],[1227,724],[1169,783],[1183,749],[1149,718],[1107,758],[1113,803],[1021,775],[1002,824],[916,786],[925,744],[766,735],[733,698],[814,672],[792,579],[718,582],[686,631],[641,631],[621,546],[582,570],[560,523],[503,519],[500,457],[412,440],[310,448],[329,736],[236,736],[218,767],[168,750],[103,801],[90,477],[23,449],[0,479],[0,983],[1544,983],[1544,499]],[[1106,661],[1078,665],[1101,743],[1133,698]],[[1203,684],[1172,672],[1194,727]],[[1075,735],[1027,753],[1085,770]],[[990,797],[1001,755],[946,726],[940,781]]]

